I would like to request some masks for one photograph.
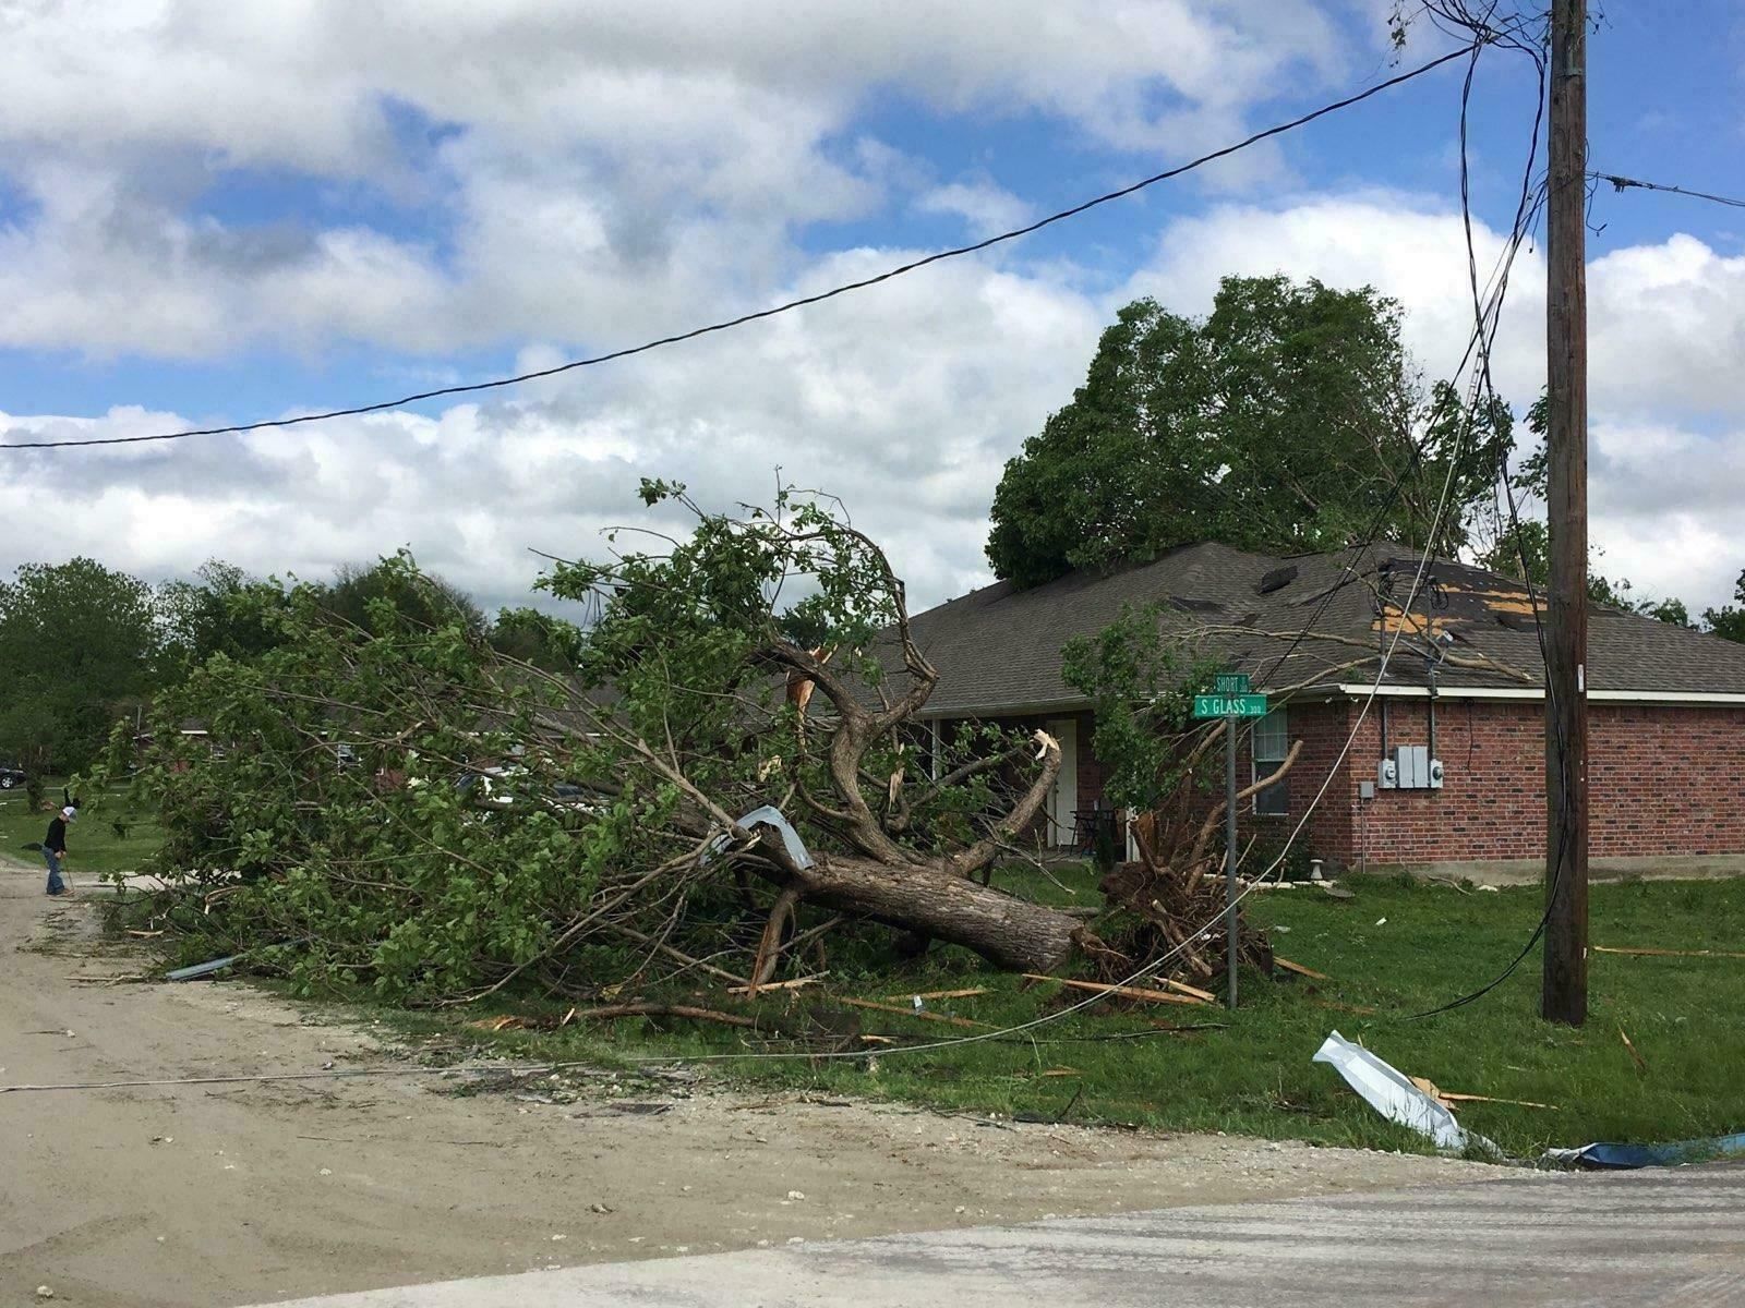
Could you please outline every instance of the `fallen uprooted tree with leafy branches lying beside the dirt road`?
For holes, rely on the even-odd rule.
[[[309,588],[253,595],[276,640],[166,694],[133,760],[168,834],[157,919],[188,952],[419,1001],[599,994],[651,964],[766,982],[827,916],[1028,971],[1098,947],[988,884],[1059,745],[984,727],[928,752],[939,675],[871,539],[806,495],[743,516],[644,497],[689,535],[541,582],[593,605],[572,671],[412,617],[398,588],[366,623]],[[190,717],[209,734],[174,731]],[[131,748],[117,732],[113,762]],[[796,839],[747,816],[768,807]]]

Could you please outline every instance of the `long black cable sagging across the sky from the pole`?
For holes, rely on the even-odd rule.
[[[808,305],[822,303],[825,300],[834,300],[836,296],[848,295],[850,291],[860,291],[869,286],[878,286],[879,283],[892,281],[893,277],[900,277],[907,272],[925,269],[932,263],[942,263],[944,260],[949,258],[961,258],[963,255],[974,255],[982,249],[998,246],[1005,241],[1016,241],[1023,235],[1040,232],[1045,227],[1066,221],[1068,218],[1077,218],[1078,215],[1089,213],[1098,206],[1126,199],[1127,195],[1134,195],[1145,190],[1146,187],[1155,187],[1159,181],[1169,181],[1173,178],[1181,176],[1183,173],[1192,173],[1197,167],[1204,167],[1206,164],[1216,162],[1220,159],[1228,159],[1230,155],[1248,150],[1249,146],[1258,145],[1260,141],[1270,140],[1274,136],[1283,136],[1284,133],[1295,131],[1297,127],[1304,127],[1314,122],[1316,119],[1326,117],[1328,113],[1337,113],[1338,110],[1351,108],[1352,105],[1361,105],[1365,99],[1370,99],[1372,96],[1377,96],[1382,91],[1389,91],[1396,85],[1403,85],[1405,82],[1422,77],[1424,73],[1429,73],[1445,63],[1468,58],[1471,51],[1483,45],[1487,38],[1488,37],[1480,35],[1469,45],[1438,56],[1436,59],[1419,65],[1410,72],[1399,73],[1398,77],[1389,77],[1386,82],[1377,82],[1375,85],[1365,91],[1359,91],[1352,96],[1345,96],[1344,99],[1335,99],[1331,105],[1323,105],[1321,108],[1304,113],[1297,119],[1291,119],[1290,122],[1281,122],[1274,127],[1267,127],[1265,131],[1258,131],[1253,136],[1237,141],[1235,145],[1227,145],[1220,150],[1213,150],[1211,153],[1201,155],[1199,159],[1192,159],[1187,164],[1180,164],[1178,167],[1171,167],[1162,173],[1153,173],[1148,178],[1141,178],[1139,181],[1134,181],[1119,190],[1105,192],[1094,199],[1075,204],[1070,209],[1050,213],[1047,218],[1038,218],[1037,221],[1028,223],[1024,227],[1014,227],[1009,232],[989,235],[984,241],[977,241],[968,246],[955,246],[951,249],[941,249],[932,255],[927,255],[925,258],[911,260],[909,263],[899,263],[897,267],[886,269],[885,272],[879,272],[872,277],[862,277],[859,281],[843,283],[841,286],[834,286],[827,291],[818,291],[817,295],[804,295],[796,300],[787,300],[784,303],[773,305],[770,309],[759,309],[750,314],[740,314],[738,317],[729,317],[721,323],[710,323],[707,326],[691,328],[689,331],[679,331],[670,337],[660,337],[658,340],[649,340],[640,345],[630,345],[625,349],[611,351],[609,354],[595,354],[585,359],[571,359],[569,363],[560,363],[553,368],[541,368],[537,371],[517,373],[515,377],[497,377],[489,382],[468,382],[464,385],[445,385],[435,391],[419,391],[417,394],[400,396],[398,399],[380,399],[370,405],[356,405],[352,408],[332,408],[318,413],[300,413],[290,419],[267,419],[262,422],[243,422],[229,427],[190,427],[187,431],[166,431],[150,436],[92,436],[73,441],[19,441],[12,445],[0,445],[0,450],[59,450],[59,448],[87,448],[94,445],[143,445],[148,441],[181,441],[188,439],[190,436],[237,436],[251,431],[267,431],[274,427],[297,427],[307,422],[328,422],[332,419],[359,417],[363,413],[380,413],[382,410],[401,408],[405,405],[417,405],[426,399],[440,399],[443,396],[476,394],[480,391],[497,391],[510,385],[522,385],[525,382],[537,382],[546,377],[557,377],[560,373],[574,371],[578,368],[593,368],[602,363],[628,359],[633,354],[646,354],[649,351],[661,349],[665,345],[677,345],[681,342],[696,340],[698,337],[714,335],[717,331],[729,331],[733,328],[745,326],[747,323],[757,323],[766,317],[775,317],[778,314],[792,312],[794,309],[804,309]]]

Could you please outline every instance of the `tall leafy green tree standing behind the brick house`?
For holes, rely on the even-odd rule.
[[[1007,464],[995,572],[1030,586],[1197,541],[1291,553],[1372,528],[1455,553],[1511,415],[1426,387],[1399,326],[1372,288],[1283,276],[1225,277],[1204,319],[1129,303],[1071,403]]]

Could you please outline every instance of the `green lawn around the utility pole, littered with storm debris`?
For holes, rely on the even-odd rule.
[[[1071,874],[1066,874],[1071,875]],[[1080,877],[1084,902],[1094,895]],[[1466,1104],[1461,1118],[1518,1155],[1593,1139],[1670,1141],[1745,1130],[1745,959],[1590,959],[1591,1015],[1584,1029],[1536,1015],[1539,952],[1483,999],[1426,1020],[1410,1013],[1473,991],[1520,950],[1541,912],[1536,888],[1462,893],[1452,886],[1347,879],[1354,900],[1317,889],[1265,891],[1249,898],[1256,923],[1274,930],[1279,954],[1331,977],[1328,982],[1244,977],[1242,1006],[1098,1005],[1024,1034],[935,1052],[892,1048],[836,1062],[735,1060],[721,1073],[759,1083],[902,1099],[944,1109],[1059,1114],[1071,1121],[1143,1123],[1167,1130],[1225,1130],[1328,1144],[1422,1149],[1386,1123],[1321,1064],[1328,1031],[1448,1092],[1553,1104],[1550,1109]],[[1040,896],[1064,891],[1033,882]],[[1635,882],[1591,889],[1591,942],[1661,949],[1745,950],[1745,882]],[[988,987],[988,994],[941,999],[928,1012],[1005,1027],[1061,1006],[1057,987],[1024,989],[974,956],[935,949],[913,963],[853,957],[832,949],[827,985],[766,994],[735,1005],[719,987],[682,996],[714,1008],[763,1012],[785,1029],[859,1020],[867,1032],[904,1039],[974,1034],[900,1013],[857,1012],[831,1003],[855,996],[907,1005],[921,991]],[[701,996],[701,998],[696,998]],[[619,996],[630,998],[630,996]],[[1077,996],[1075,996],[1077,998]],[[567,1005],[565,1005],[567,1006]],[[1344,1006],[1344,1008],[1340,1008]],[[1373,1008],[1373,1013],[1349,1012]],[[637,1059],[784,1048],[747,1031],[632,1018],[606,1027],[483,1034],[461,1027],[501,1008],[459,1015],[405,1015],[417,1031],[464,1031],[532,1059]],[[525,1008],[522,1012],[527,1012]],[[562,1006],[557,1010],[562,1012]],[[450,1010],[452,1013],[452,1010]],[[1227,1024],[1166,1032],[1157,1024]],[[1646,1069],[1619,1038],[1628,1032]]]

